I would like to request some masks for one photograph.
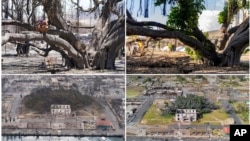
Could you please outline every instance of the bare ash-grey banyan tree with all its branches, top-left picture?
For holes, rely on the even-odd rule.
[[[84,4],[87,1],[91,5],[86,9]],[[67,11],[63,5],[69,3],[74,5],[72,9],[78,17],[75,27],[64,16]],[[43,20],[48,20],[46,34],[36,31],[36,22],[40,20],[36,17],[37,12],[43,13]],[[56,51],[64,58],[67,68],[90,68],[89,60],[93,59],[93,68],[114,70],[115,59],[125,44],[124,0],[86,0],[83,4],[79,0],[2,0],[2,13],[3,26],[15,25],[23,29],[19,33],[2,35],[2,45],[17,41],[45,41],[46,48],[34,47],[39,55],[46,57],[52,50]],[[89,45],[78,38],[79,32],[71,30],[86,28],[79,26],[79,16],[83,13],[93,14],[96,19],[94,26],[87,27],[92,29]]]

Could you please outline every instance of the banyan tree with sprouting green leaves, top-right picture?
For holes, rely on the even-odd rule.
[[[133,0],[131,0],[133,3]],[[145,0],[145,3],[152,0]],[[211,42],[198,28],[199,15],[205,10],[204,0],[153,0],[161,5],[166,15],[166,5],[171,5],[166,25],[155,21],[136,21],[127,7],[127,35],[142,35],[152,38],[175,38],[199,52],[210,66],[239,66],[240,57],[249,46],[249,15],[238,26],[229,27],[233,16],[241,9],[248,9],[249,0],[226,0],[223,11],[218,15],[222,24],[217,43]],[[147,4],[145,4],[147,5]],[[144,17],[148,17],[148,6],[144,7]],[[158,28],[148,28],[148,26]],[[157,30],[159,29],[159,30]]]

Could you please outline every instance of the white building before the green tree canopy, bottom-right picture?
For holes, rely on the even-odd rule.
[[[196,109],[178,109],[175,113],[175,121],[196,121],[197,112]]]

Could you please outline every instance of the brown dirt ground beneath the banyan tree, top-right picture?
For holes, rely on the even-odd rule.
[[[190,59],[185,52],[149,50],[144,56],[127,56],[128,74],[248,74],[249,54],[242,55],[240,67],[210,67]]]

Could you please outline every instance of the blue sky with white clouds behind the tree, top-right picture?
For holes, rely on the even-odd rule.
[[[149,3],[149,18],[144,18],[138,15],[139,0],[134,0],[134,8],[130,9],[131,1],[127,0],[126,7],[128,10],[132,11],[132,16],[138,21],[157,21],[165,24],[167,21],[167,16],[161,14],[161,7],[153,8],[153,3]],[[142,0],[144,2],[144,0]],[[205,0],[206,10],[202,12],[199,17],[199,28],[202,31],[218,30],[221,25],[217,22],[218,13],[223,9],[225,0]],[[142,4],[144,6],[144,3]],[[170,13],[170,6],[167,7],[167,15]]]

